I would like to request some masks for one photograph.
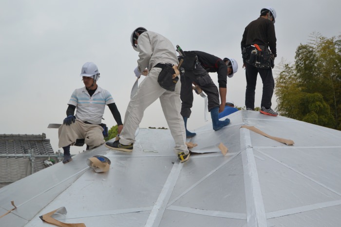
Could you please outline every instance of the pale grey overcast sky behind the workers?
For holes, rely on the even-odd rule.
[[[232,57],[238,72],[227,78],[227,99],[244,107],[246,79],[240,42],[246,25],[271,6],[276,10],[277,58],[293,63],[296,48],[313,32],[331,38],[341,35],[341,1],[336,0],[2,0],[0,7],[0,134],[42,134],[58,148],[57,129],[76,88],[85,62],[100,72],[98,85],[114,97],[124,114],[135,82],[138,53],[130,36],[137,27],[157,32],[183,50]],[[273,70],[276,77],[276,68]],[[217,74],[211,73],[218,85]],[[140,79],[141,80],[141,79]],[[255,106],[260,106],[258,76]],[[276,96],[272,97],[276,109]],[[208,124],[204,99],[194,94],[188,129]],[[103,123],[116,125],[106,107]],[[159,100],[144,113],[140,128],[166,127]],[[157,138],[155,138],[157,139]],[[152,142],[152,140],[151,140]],[[72,147],[72,153],[85,150]]]

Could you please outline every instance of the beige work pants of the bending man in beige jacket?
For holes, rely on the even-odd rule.
[[[175,141],[174,151],[176,154],[180,151],[185,151],[187,154],[189,151],[186,145],[185,124],[180,114],[181,82],[179,79],[174,92],[167,91],[160,87],[157,82],[157,77],[160,72],[161,68],[152,68],[129,102],[124,117],[123,130],[120,133],[120,143],[128,145],[135,142],[135,131],[142,120],[144,111],[159,98],[163,114],[165,115],[168,127],[170,128],[170,133]],[[157,138],[152,139],[156,140]]]

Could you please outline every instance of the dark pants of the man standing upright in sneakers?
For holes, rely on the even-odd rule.
[[[255,108],[255,90],[257,75],[261,76],[263,81],[263,95],[261,108],[264,106],[266,109],[271,107],[271,98],[275,88],[275,81],[272,76],[272,69],[256,68],[246,63],[246,93],[245,93],[245,106],[246,108]]]

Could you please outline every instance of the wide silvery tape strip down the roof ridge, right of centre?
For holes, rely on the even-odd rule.
[[[247,226],[267,227],[264,201],[258,179],[255,157],[253,155],[250,131],[242,128],[240,133],[242,151],[244,188],[246,197]]]

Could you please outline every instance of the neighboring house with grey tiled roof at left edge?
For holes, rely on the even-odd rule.
[[[0,188],[48,167],[49,155],[57,162],[45,133],[0,134]]]

